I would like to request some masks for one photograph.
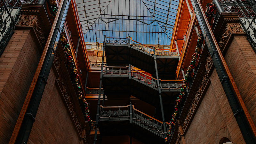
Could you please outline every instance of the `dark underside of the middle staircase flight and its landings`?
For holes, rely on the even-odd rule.
[[[151,84],[145,84],[144,81],[136,80],[132,77],[111,77],[103,76],[104,93],[108,99],[127,99],[134,96],[150,105],[159,105],[159,93],[157,87],[152,87]],[[162,90],[162,99],[164,104],[174,104],[179,89]]]

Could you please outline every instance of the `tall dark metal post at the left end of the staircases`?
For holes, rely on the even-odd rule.
[[[101,62],[101,71],[100,71],[100,89],[99,89],[99,98],[98,98],[98,103],[97,103],[97,114],[96,114],[96,122],[95,122],[95,132],[94,132],[93,144],[96,144],[96,142],[97,142],[97,129],[99,127],[100,95],[101,95],[101,85],[102,85],[102,77],[103,77],[103,62],[104,62],[105,43],[106,43],[105,39],[106,39],[106,36],[104,35],[102,62]]]

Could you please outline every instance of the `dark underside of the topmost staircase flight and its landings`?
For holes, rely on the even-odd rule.
[[[152,54],[136,49],[128,44],[106,44],[106,63],[108,66],[127,66],[140,68],[156,77],[154,57]],[[178,65],[178,56],[156,56],[160,79],[174,79]]]

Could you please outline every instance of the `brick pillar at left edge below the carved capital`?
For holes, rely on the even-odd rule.
[[[9,142],[40,59],[30,30],[15,30],[0,57],[0,144]]]

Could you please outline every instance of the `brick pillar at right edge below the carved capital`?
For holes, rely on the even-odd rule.
[[[235,36],[224,57],[256,125],[256,54],[245,36]]]

